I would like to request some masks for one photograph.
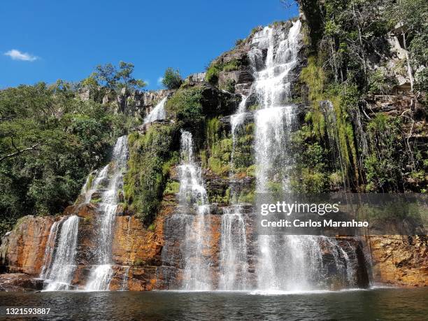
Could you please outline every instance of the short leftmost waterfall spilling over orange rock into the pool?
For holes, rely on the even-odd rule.
[[[45,267],[41,273],[41,278],[48,283],[45,291],[70,290],[73,273],[76,270],[78,222],[79,217],[71,215],[52,225],[47,247],[52,252],[50,257],[45,257]]]

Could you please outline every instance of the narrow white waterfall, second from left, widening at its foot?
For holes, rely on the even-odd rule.
[[[120,201],[119,192],[123,186],[123,173],[127,166],[127,136],[117,139],[113,148],[112,161],[99,173],[99,180],[94,181],[94,186],[107,180],[107,190],[101,195],[99,211],[99,231],[97,235],[97,265],[92,267],[90,278],[85,290],[105,291],[108,290],[110,280],[113,276],[111,245],[113,242],[113,227],[117,204]]]

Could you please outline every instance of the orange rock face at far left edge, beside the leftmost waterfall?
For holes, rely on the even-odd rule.
[[[55,217],[22,217],[20,224],[1,241],[1,264],[8,271],[38,276],[43,266],[45,245]]]

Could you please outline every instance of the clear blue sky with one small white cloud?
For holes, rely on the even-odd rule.
[[[2,0],[0,89],[77,81],[120,60],[158,89],[166,67],[204,71],[253,27],[295,15],[280,0]]]

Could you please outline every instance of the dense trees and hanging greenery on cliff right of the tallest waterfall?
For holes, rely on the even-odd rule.
[[[397,85],[392,70],[382,62],[390,57],[386,43],[391,30],[409,49],[394,72],[413,82],[415,71],[426,65],[427,56],[421,53],[422,43],[426,48],[422,38],[428,26],[427,8],[426,1],[419,0],[302,4],[308,18],[304,39],[310,46],[300,80],[312,104],[304,127],[294,136],[294,148],[301,151],[292,176],[295,190],[425,190],[427,155],[409,141],[408,134],[415,115],[411,110],[373,115],[365,109],[366,94],[391,94]],[[373,59],[382,62],[380,67],[373,67]],[[414,87],[423,85],[415,80]]]

